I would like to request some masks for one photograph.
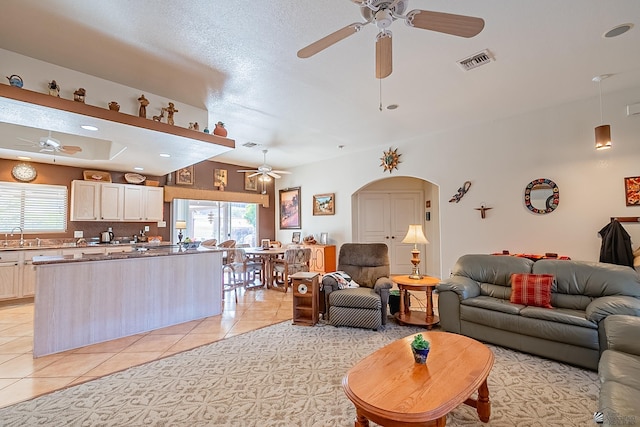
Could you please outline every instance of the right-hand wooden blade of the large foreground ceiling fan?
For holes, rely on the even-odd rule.
[[[459,37],[473,37],[484,28],[484,19],[444,12],[412,10],[407,13],[407,25]]]

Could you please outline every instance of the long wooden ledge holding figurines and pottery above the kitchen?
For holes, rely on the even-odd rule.
[[[26,102],[46,108],[67,111],[70,113],[81,114],[84,116],[94,117],[97,119],[108,120],[127,126],[147,129],[155,132],[181,136],[199,141],[209,142],[229,148],[235,148],[235,141],[221,136],[186,129],[179,126],[172,126],[166,123],[156,122],[151,119],[145,119],[138,116],[132,116],[118,111],[112,111],[108,108],[96,107],[83,102],[77,102],[70,99],[58,98],[45,93],[34,92],[28,89],[20,89],[10,85],[0,84],[0,96],[15,101]]]

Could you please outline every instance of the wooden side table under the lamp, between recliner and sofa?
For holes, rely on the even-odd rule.
[[[396,313],[395,317],[401,325],[416,325],[426,326],[427,329],[431,329],[433,325],[440,321],[440,318],[433,313],[433,289],[440,279],[431,276],[422,276],[421,279],[410,279],[406,276],[392,276],[393,280],[400,289],[400,311]],[[409,307],[405,306],[405,298],[407,298],[407,291],[423,291],[427,293],[427,311],[415,311],[409,310]]]

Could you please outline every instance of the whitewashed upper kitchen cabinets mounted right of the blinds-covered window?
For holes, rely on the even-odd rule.
[[[162,221],[163,203],[162,187],[71,182],[71,221]]]

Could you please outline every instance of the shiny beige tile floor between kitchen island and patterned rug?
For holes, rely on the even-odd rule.
[[[0,307],[0,407],[292,318],[292,292],[226,292],[219,316],[34,359],[33,303]]]

